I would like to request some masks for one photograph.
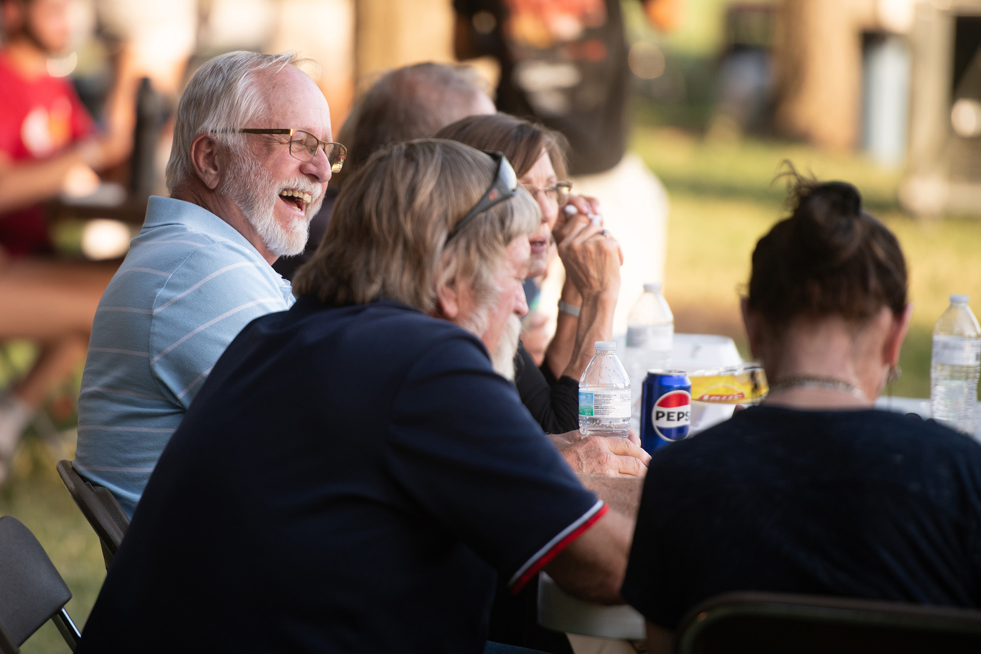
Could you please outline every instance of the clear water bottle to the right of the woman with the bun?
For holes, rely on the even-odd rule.
[[[974,436],[981,328],[967,300],[967,296],[951,296],[951,305],[933,328],[930,404],[935,419]]]

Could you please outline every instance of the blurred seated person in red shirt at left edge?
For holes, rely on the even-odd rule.
[[[26,423],[84,356],[92,316],[113,270],[56,261],[42,203],[83,195],[95,170],[129,156],[136,79],[125,53],[107,101],[105,135],[95,131],[72,83],[48,72],[68,51],[74,0],[0,0],[0,342],[26,338],[41,353],[26,377],[0,395],[0,480]]]

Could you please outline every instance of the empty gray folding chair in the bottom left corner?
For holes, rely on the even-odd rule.
[[[19,647],[47,621],[75,651],[81,634],[65,605],[72,591],[21,520],[0,518],[0,652]]]

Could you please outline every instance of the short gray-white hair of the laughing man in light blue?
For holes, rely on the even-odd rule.
[[[213,134],[227,147],[237,149],[241,135],[230,132],[267,111],[267,97],[259,88],[257,74],[304,60],[293,52],[261,54],[238,50],[206,61],[187,82],[174,121],[174,144],[167,162],[167,190],[174,192],[193,175],[190,144],[199,134]]]

